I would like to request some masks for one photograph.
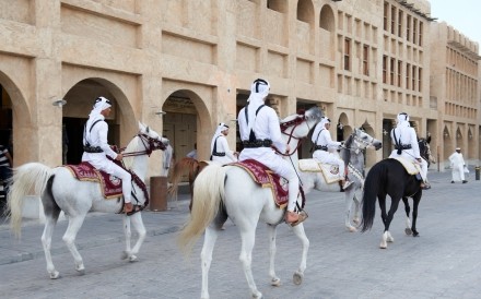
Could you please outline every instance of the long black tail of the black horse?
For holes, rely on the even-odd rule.
[[[363,219],[361,223],[364,232],[373,227],[376,214],[376,200],[379,187],[386,183],[387,168],[383,162],[375,164],[366,176],[363,192]]]

